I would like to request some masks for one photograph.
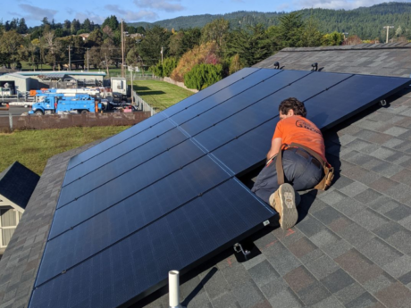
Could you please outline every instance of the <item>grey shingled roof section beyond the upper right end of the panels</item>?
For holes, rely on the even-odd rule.
[[[410,77],[411,43],[285,48],[254,67],[273,68],[274,62],[284,70],[309,71],[317,62],[322,71]]]

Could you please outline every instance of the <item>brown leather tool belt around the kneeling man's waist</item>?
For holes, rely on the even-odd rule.
[[[315,189],[327,190],[328,187],[331,187],[331,182],[332,182],[332,179],[334,178],[334,168],[328,162],[324,162],[323,158],[319,154],[317,154],[315,151],[313,151],[312,149],[306,146],[303,146],[303,145],[296,144],[296,143],[292,143],[290,145],[282,144],[281,149],[279,153],[277,154],[277,161],[275,162],[275,168],[277,170],[278,185],[284,184],[284,170],[282,169],[282,151],[283,151],[283,148],[287,149],[287,147],[297,147],[297,148],[301,148],[305,150],[308,154],[312,155],[315,158],[314,160],[312,160],[312,162],[317,167],[320,167],[320,166],[323,167],[324,177],[322,180],[320,180],[320,182],[317,185],[315,185],[314,187]],[[297,151],[300,151],[296,153],[301,154],[303,157],[307,156],[307,154],[304,151],[301,151],[301,150],[297,150]]]

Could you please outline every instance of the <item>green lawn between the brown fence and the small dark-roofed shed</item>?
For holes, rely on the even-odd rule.
[[[47,160],[73,148],[110,137],[128,129],[127,126],[21,130],[0,134],[0,172],[19,161],[41,175]]]

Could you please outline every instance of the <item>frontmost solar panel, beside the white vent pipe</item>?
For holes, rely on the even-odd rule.
[[[229,179],[53,279],[37,282],[29,306],[117,307],[136,301],[148,288],[164,286],[170,269],[187,268],[215,254],[216,247],[234,244],[256,226],[263,228],[272,214]],[[39,275],[45,262],[41,267]]]

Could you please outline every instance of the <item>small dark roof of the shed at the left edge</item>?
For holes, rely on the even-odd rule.
[[[40,179],[38,174],[30,171],[20,162],[13,162],[0,174],[0,195],[25,209],[38,184],[38,179]]]

